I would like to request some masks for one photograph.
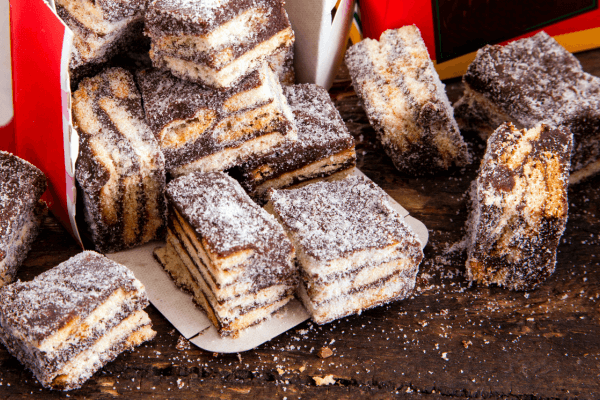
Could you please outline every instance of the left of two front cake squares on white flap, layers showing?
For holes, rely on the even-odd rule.
[[[294,247],[233,178],[195,172],[169,183],[167,197],[167,246],[155,256],[221,336],[237,336],[294,297]]]

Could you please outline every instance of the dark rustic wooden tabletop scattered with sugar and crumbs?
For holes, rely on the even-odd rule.
[[[600,50],[578,55],[600,76]],[[0,398],[600,398],[600,176],[569,189],[556,272],[530,293],[470,286],[466,193],[485,147],[467,135],[471,166],[435,177],[400,175],[343,68],[333,89],[358,167],[429,228],[414,297],[325,326],[305,322],[257,349],[213,354],[190,345],[152,306],[156,339],[117,358],[80,390],[43,389],[0,348]],[[451,101],[460,80],[447,82]],[[80,251],[49,216],[18,277],[30,280]],[[597,256],[598,254],[598,256]],[[319,350],[332,351],[320,358]],[[335,384],[317,386],[314,377]]]

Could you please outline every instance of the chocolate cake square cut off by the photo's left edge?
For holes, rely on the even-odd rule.
[[[46,186],[42,171],[0,151],[0,287],[14,280],[37,237]]]

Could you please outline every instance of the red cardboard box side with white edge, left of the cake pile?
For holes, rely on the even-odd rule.
[[[10,1],[14,129],[0,148],[40,168],[54,215],[79,239],[75,224],[74,160],[78,138],[71,123],[69,58],[72,32],[43,0]]]

